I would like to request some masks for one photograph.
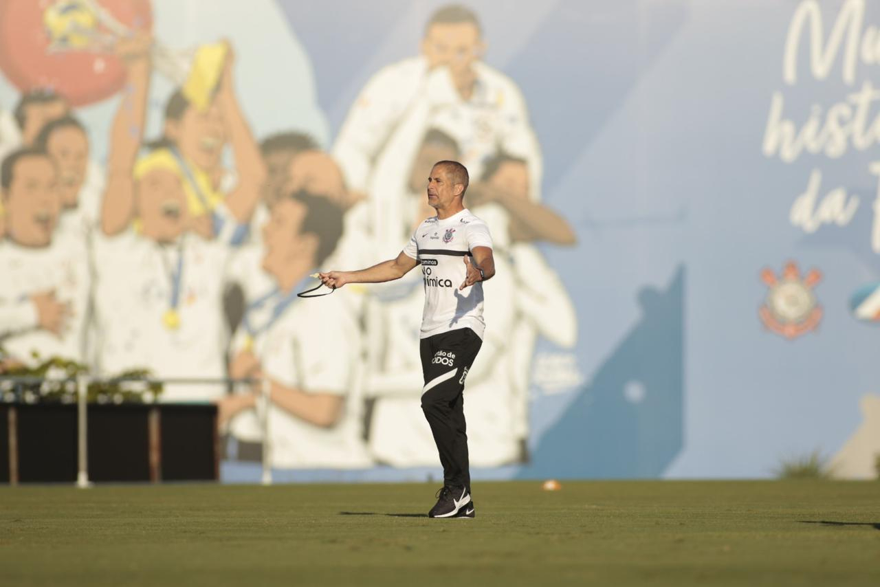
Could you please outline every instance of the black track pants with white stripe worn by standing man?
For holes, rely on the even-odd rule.
[[[423,338],[420,344],[422,411],[428,419],[443,465],[444,483],[471,489],[467,459],[467,428],[462,392],[467,371],[483,341],[470,328]]]

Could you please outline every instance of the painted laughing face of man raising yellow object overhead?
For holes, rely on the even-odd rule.
[[[177,143],[185,158],[209,171],[220,165],[226,143],[226,129],[220,106],[212,103],[202,112],[187,106],[179,121],[165,122],[165,135]]]

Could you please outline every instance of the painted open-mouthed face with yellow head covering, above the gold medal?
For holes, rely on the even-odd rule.
[[[137,181],[136,195],[143,236],[170,243],[187,230],[187,194],[177,173],[162,168],[146,172]]]

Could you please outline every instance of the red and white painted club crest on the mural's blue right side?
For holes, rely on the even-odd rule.
[[[791,340],[818,327],[822,306],[818,305],[813,288],[822,281],[818,269],[802,276],[794,261],[788,261],[777,276],[772,269],[761,271],[761,281],[770,290],[759,309],[764,326]]]

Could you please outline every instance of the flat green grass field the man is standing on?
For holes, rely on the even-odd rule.
[[[0,585],[880,585],[880,483],[0,488]]]

